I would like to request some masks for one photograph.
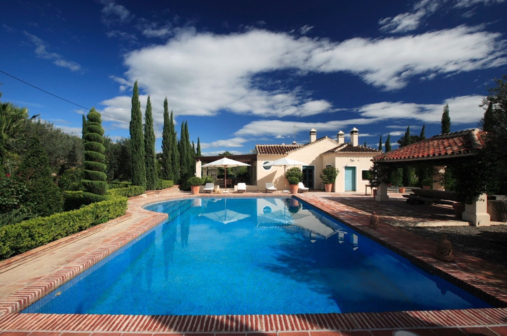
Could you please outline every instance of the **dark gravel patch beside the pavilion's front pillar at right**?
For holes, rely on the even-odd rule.
[[[507,225],[404,227],[431,240],[445,233],[454,249],[469,255],[507,266]]]

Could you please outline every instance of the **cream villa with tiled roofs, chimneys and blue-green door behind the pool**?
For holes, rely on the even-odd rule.
[[[359,145],[359,131],[350,131],[350,142],[345,143],[345,133],[338,132],[337,139],[322,137],[317,139],[317,131],[310,131],[306,144],[293,142],[290,145],[256,145],[256,154],[234,155],[234,160],[250,164],[250,178],[247,190],[264,190],[267,182],[273,182],[278,190],[288,188],[284,179],[283,166],[264,166],[265,163],[287,157],[307,165],[299,166],[303,170],[303,184],[310,189],[324,189],[319,177],[326,166],[338,168],[340,173],[333,186],[334,192],[361,191],[369,184],[366,172],[372,166],[371,159],[382,153],[378,149]],[[209,174],[202,164],[219,159],[219,156],[199,157],[196,161],[197,176]],[[293,166],[286,166],[289,169]],[[204,170],[204,171],[203,171]],[[239,181],[241,182],[241,181]],[[216,183],[216,182],[215,182]],[[227,182],[231,187],[235,181]]]

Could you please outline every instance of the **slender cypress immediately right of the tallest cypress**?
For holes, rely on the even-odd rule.
[[[146,189],[155,190],[158,184],[158,172],[155,163],[155,131],[153,130],[152,102],[150,96],[144,112],[144,164],[146,164]]]

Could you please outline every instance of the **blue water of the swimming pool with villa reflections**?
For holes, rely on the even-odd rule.
[[[194,198],[23,313],[222,315],[491,307],[293,198]]]

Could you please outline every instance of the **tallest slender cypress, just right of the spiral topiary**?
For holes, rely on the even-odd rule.
[[[144,138],[142,135],[141,103],[137,80],[132,92],[132,109],[130,112],[130,144],[132,146],[132,184],[146,188],[146,167],[144,166]]]

